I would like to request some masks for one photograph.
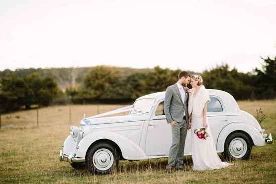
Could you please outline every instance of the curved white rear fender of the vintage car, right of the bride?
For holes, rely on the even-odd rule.
[[[252,139],[255,146],[264,146],[265,139],[262,137],[261,133],[252,125],[243,122],[233,122],[225,126],[218,135],[217,140],[217,151],[224,152],[224,144],[226,138],[234,131],[244,131]]]

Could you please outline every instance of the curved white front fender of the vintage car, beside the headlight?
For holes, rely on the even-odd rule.
[[[139,145],[125,136],[111,131],[95,131],[85,136],[78,145],[76,156],[84,158],[91,144],[97,140],[107,139],[118,145],[124,159],[140,160],[145,159],[146,155]]]

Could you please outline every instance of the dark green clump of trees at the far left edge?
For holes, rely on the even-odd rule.
[[[0,81],[1,109],[17,110],[22,106],[29,109],[32,104],[49,105],[56,96],[58,88],[52,78],[41,79],[37,73],[23,78],[15,75]]]

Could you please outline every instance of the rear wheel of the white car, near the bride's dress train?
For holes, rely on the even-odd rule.
[[[252,150],[252,142],[246,133],[234,132],[229,135],[224,145],[224,158],[227,160],[249,159]]]

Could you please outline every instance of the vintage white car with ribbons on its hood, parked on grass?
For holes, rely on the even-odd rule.
[[[254,146],[273,142],[258,121],[239,109],[227,92],[208,89],[211,102],[207,116],[218,153],[226,159],[248,159]],[[133,105],[84,118],[80,127],[71,126],[70,135],[60,150],[60,161],[73,168],[87,168],[93,173],[110,173],[119,160],[143,160],[168,157],[171,127],[166,122],[165,92],[138,98]],[[111,116],[128,112],[127,115]],[[109,115],[109,117],[104,117]],[[191,154],[188,130],[184,155]]]

